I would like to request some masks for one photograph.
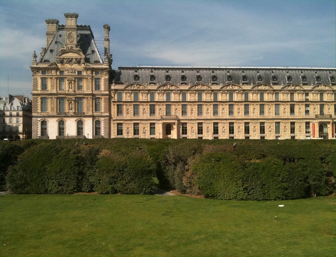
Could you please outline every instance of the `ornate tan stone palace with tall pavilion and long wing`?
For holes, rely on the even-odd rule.
[[[33,138],[334,139],[335,69],[119,67],[89,26],[46,20]]]

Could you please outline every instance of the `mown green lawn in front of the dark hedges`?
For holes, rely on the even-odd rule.
[[[335,256],[335,197],[4,195],[0,209],[0,256]]]

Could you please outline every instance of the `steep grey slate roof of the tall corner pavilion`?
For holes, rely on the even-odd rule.
[[[65,44],[66,31],[64,30],[64,25],[59,25],[58,30],[48,46],[45,55],[43,56],[42,62],[55,62],[56,55],[58,54],[61,43]],[[86,25],[77,25],[77,42],[79,47],[82,49],[83,54],[85,55],[85,62],[88,63],[103,63],[100,58],[98,48],[94,42],[94,37],[90,26]]]

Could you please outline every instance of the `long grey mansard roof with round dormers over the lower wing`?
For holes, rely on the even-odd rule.
[[[138,81],[134,81],[134,75],[137,74],[140,78]],[[181,75],[186,76],[187,85],[204,83],[211,84],[212,75],[217,77],[217,83],[220,85],[225,84],[238,84],[244,85],[257,85],[267,84],[270,85],[286,85],[286,84],[298,84],[303,85],[318,85],[327,84],[335,85],[335,69],[332,68],[259,68],[259,67],[119,67],[116,70],[114,78],[115,84],[131,84],[137,82],[140,84],[149,84],[150,75],[155,76],[155,85],[164,84],[166,81],[166,75],[171,76],[169,83],[177,85],[181,83]],[[201,81],[197,81],[197,75],[202,77]],[[227,75],[232,77],[232,80],[227,80]],[[242,80],[242,76],[247,76],[247,81]],[[258,75],[262,80],[258,81]],[[272,76],[277,77],[277,83],[272,81]],[[288,81],[288,77],[291,76],[291,81]],[[302,76],[305,76],[306,82],[302,81]],[[320,77],[320,81],[319,78]],[[302,77],[302,78],[301,78]],[[259,77],[260,79],[260,77]]]

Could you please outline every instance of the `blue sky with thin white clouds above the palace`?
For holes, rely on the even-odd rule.
[[[32,54],[46,19],[90,25],[120,66],[335,67],[334,0],[0,0],[0,96],[31,98]],[[8,79],[7,79],[8,78]]]

